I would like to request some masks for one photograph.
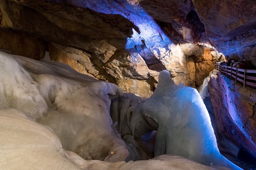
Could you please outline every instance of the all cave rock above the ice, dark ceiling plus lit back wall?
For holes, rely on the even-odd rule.
[[[48,45],[52,60],[145,97],[151,96],[164,69],[176,84],[198,87],[212,69],[209,50],[256,62],[256,18],[251,15],[255,2],[210,4],[206,0],[2,0],[0,28],[28,36],[17,39],[35,38],[40,52],[16,53],[6,32],[0,48],[39,59]],[[25,43],[30,51],[37,50],[33,41]],[[242,48],[234,48],[238,44]]]

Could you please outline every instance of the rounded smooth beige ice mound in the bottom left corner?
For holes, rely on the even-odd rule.
[[[79,169],[47,126],[16,109],[0,108],[1,169]]]

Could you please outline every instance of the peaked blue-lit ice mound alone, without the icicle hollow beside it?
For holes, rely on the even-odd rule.
[[[210,116],[196,89],[175,85],[161,71],[153,95],[142,104],[145,116],[158,123],[155,156],[179,155],[210,166],[239,169],[219,153]]]

